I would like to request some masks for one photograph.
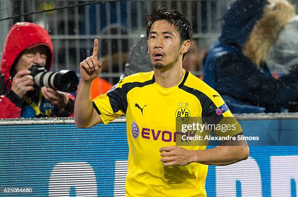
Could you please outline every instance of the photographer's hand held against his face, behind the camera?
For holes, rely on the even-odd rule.
[[[34,90],[33,76],[30,75],[30,71],[21,70],[16,73],[12,80],[11,90],[13,90],[19,98],[28,92]]]

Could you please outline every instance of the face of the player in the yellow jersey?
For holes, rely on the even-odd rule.
[[[155,21],[149,31],[148,54],[154,68],[171,68],[182,60],[179,32],[166,20]]]

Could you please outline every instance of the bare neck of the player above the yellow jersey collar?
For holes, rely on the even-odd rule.
[[[171,88],[177,86],[184,75],[184,69],[181,65],[175,65],[171,69],[161,70],[154,68],[154,77],[158,85],[164,88]]]

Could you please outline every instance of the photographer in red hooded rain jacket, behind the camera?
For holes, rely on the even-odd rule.
[[[74,96],[38,88],[29,69],[51,70],[54,50],[50,35],[37,24],[19,22],[10,29],[3,49],[0,77],[0,118],[73,116]]]

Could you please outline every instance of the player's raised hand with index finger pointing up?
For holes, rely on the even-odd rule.
[[[98,40],[94,39],[93,55],[80,63],[81,79],[84,82],[92,82],[102,70],[102,63],[97,59]]]

